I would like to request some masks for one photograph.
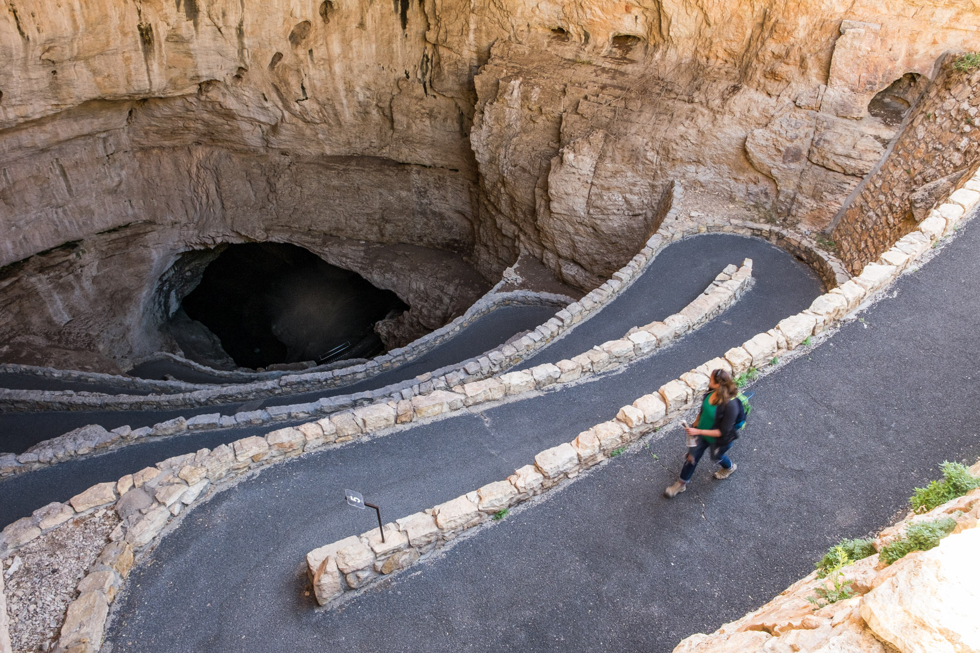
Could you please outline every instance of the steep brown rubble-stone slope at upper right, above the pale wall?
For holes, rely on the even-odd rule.
[[[980,167],[980,70],[956,70],[948,56],[888,159],[861,185],[833,227],[852,271],[915,230]]]

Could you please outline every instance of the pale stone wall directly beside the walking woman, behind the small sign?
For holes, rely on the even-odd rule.
[[[750,368],[762,369],[781,354],[796,349],[891,284],[980,200],[980,192],[957,192],[956,197],[951,196],[949,206],[940,207],[918,230],[900,238],[878,262],[867,264],[859,276],[814,299],[806,311],[758,333],[741,347],[729,349],[723,357],[664,383],[657,392],[623,406],[615,419],[580,432],[571,442],[542,451],[535,456],[533,465],[515,470],[506,480],[488,483],[389,523],[384,526],[384,541],[381,530],[373,528],[314,549],[307,554],[307,569],[317,601],[320,605],[340,601],[348,592],[411,567],[466,529],[561,485],[642,435],[679,418],[708,388],[711,370],[720,368],[738,375]]]

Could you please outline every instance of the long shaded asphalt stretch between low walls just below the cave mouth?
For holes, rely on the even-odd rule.
[[[261,407],[302,404],[308,401],[316,401],[322,397],[374,390],[390,383],[397,383],[408,378],[416,377],[424,372],[436,370],[440,367],[478,356],[501,342],[506,341],[517,332],[531,329],[547,322],[549,318],[554,317],[555,311],[555,308],[547,306],[504,306],[481,317],[447,342],[394,370],[383,372],[350,385],[312,392],[276,395],[265,399],[261,403]],[[58,379],[45,380],[50,381],[52,385],[47,388],[36,387],[24,389],[75,389],[58,385],[60,383]],[[93,392],[99,391],[93,386],[89,386],[87,389]],[[103,389],[108,390],[110,388],[106,386]],[[112,390],[112,392],[116,391]],[[133,394],[147,393],[133,392]],[[152,427],[159,422],[172,420],[180,416],[192,417],[194,415],[208,415],[209,413],[232,415],[244,403],[246,402],[239,401],[175,410],[4,413],[0,414],[0,451],[23,453],[27,448],[42,440],[57,437],[73,428],[84,427],[89,424],[98,424],[109,429],[124,425],[139,428]],[[251,410],[256,410],[256,408],[254,407]]]

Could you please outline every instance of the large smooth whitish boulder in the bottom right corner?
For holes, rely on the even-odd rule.
[[[868,628],[903,653],[980,650],[980,528],[949,535],[863,596]]]

